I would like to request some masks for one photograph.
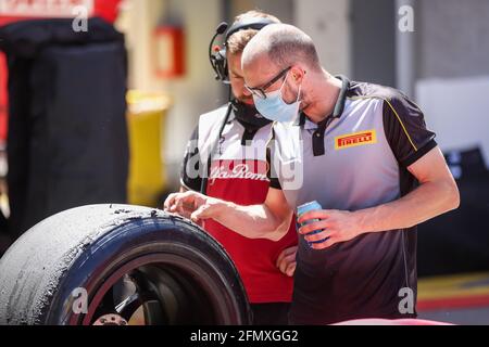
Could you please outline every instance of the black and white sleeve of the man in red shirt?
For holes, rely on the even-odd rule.
[[[184,155],[184,162],[180,168],[180,183],[188,190],[200,191],[202,178],[200,176],[200,155],[199,155],[199,126],[193,129],[187,149]]]

